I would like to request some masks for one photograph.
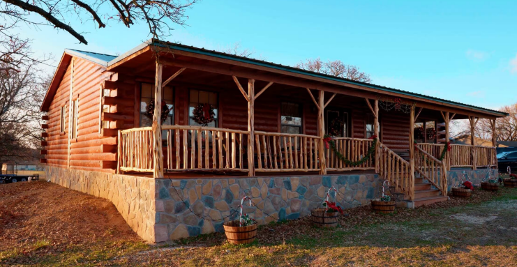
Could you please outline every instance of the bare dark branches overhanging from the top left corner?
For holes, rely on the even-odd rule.
[[[110,20],[128,28],[144,22],[152,38],[170,36],[172,25],[186,25],[187,8],[198,0],[0,0],[0,62],[4,70],[17,70],[32,61],[30,40],[20,38],[19,25],[53,26],[88,44],[80,25],[95,22],[105,28]],[[36,15],[34,15],[36,14]],[[78,22],[77,22],[78,19]],[[38,59],[41,61],[41,59]]]

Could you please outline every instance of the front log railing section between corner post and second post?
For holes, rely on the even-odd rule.
[[[188,125],[162,125],[167,131],[167,171],[248,171],[243,160],[249,132]]]

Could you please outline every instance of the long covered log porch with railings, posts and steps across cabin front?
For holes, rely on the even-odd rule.
[[[117,135],[117,173],[194,178],[365,171],[412,200],[415,174],[447,195],[451,168],[497,166],[495,147],[447,144],[451,120],[469,119],[473,128],[480,118],[494,122],[496,114],[199,50],[147,46],[107,68],[113,75],[102,88],[103,132]],[[152,85],[146,101],[142,84]],[[193,92],[209,96],[196,102]],[[158,119],[164,98],[172,106],[168,123]],[[143,123],[147,100],[154,101],[151,125]],[[192,122],[202,102],[215,107],[208,125]],[[337,130],[333,116],[340,118]],[[419,125],[423,140],[415,134]]]

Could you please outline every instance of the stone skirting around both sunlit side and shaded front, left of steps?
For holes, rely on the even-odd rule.
[[[351,208],[369,204],[382,185],[377,174],[154,179],[59,167],[46,167],[45,172],[53,183],[112,201],[129,226],[151,243],[224,231],[219,219],[230,214],[226,221],[237,219],[235,211],[245,195],[272,217],[255,206],[243,212],[267,224],[310,215],[331,186],[345,197],[338,196],[338,204]],[[336,201],[334,192],[331,201]]]

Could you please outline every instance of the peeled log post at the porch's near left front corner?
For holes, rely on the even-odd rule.
[[[162,152],[162,69],[163,66],[156,61],[156,77],[154,79],[154,115],[153,115],[153,162],[154,178],[163,177],[163,152]]]

